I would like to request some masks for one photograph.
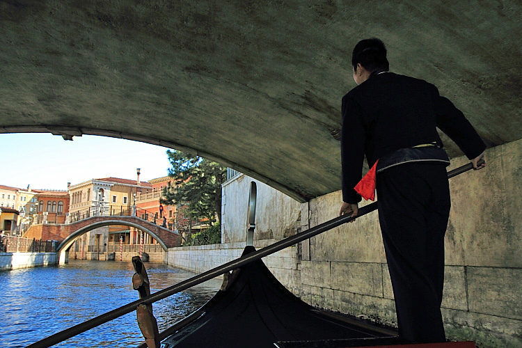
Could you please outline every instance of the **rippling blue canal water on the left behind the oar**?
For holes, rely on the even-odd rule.
[[[145,262],[151,292],[195,274]],[[0,272],[0,347],[26,347],[53,333],[139,298],[131,262],[71,260],[69,264]],[[154,303],[159,331],[196,310],[219,290],[218,279]],[[55,347],[136,347],[143,336],[136,313],[114,319]]]

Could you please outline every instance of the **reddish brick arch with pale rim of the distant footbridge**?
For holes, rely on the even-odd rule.
[[[74,221],[62,226],[61,235],[67,236],[63,242],[56,248],[56,253],[59,255],[60,264],[65,263],[66,255],[69,248],[74,241],[84,235],[90,230],[100,228],[102,226],[123,225],[138,228],[144,233],[151,235],[161,245],[161,248],[166,251],[168,248],[180,246],[182,237],[179,233],[173,232],[168,228],[161,227],[156,223],[152,223],[138,216],[120,216],[120,215],[97,215],[89,216],[79,221]]]

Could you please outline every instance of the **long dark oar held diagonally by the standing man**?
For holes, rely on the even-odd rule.
[[[479,162],[479,165],[480,164],[481,162]],[[456,168],[448,172],[448,178],[469,171],[472,168],[473,164],[471,163]],[[377,202],[365,205],[364,207],[359,208],[357,217],[361,217],[365,214],[368,214],[369,212],[373,212],[376,209]],[[227,262],[226,264],[222,264],[221,266],[215,267],[214,269],[210,269],[209,271],[206,271],[202,274],[198,274],[198,276],[193,276],[192,278],[183,280],[180,283],[167,287],[164,290],[160,290],[158,292],[155,292],[154,294],[145,296],[142,299],[139,299],[132,303],[127,303],[125,306],[121,306],[119,308],[111,310],[110,312],[94,317],[93,319],[90,319],[86,322],[72,326],[69,329],[65,329],[63,331],[55,333],[54,335],[50,335],[49,337],[39,340],[38,342],[35,342],[32,345],[27,346],[26,348],[51,347],[52,345],[56,345],[56,343],[67,340],[68,338],[71,338],[75,335],[79,335],[80,333],[84,333],[85,331],[93,329],[96,326],[100,326],[101,324],[110,322],[111,320],[116,319],[117,317],[121,317],[122,315],[131,313],[133,310],[136,310],[136,308],[140,306],[142,303],[149,304],[159,301],[161,299],[165,299],[166,297],[171,296],[173,294],[177,294],[178,292],[182,292],[183,290],[186,290],[189,287],[193,287],[194,285],[203,283],[209,279],[215,278],[216,276],[221,276],[221,274],[225,274],[226,272],[232,271],[239,267],[243,267],[244,265],[254,262],[255,260],[259,260],[260,258],[264,258],[267,255],[276,253],[276,251],[283,250],[288,246],[292,246],[299,242],[303,242],[303,240],[319,235],[322,232],[331,230],[332,228],[338,227],[354,219],[355,218],[352,218],[349,214],[338,216],[335,219],[331,219],[330,221],[326,221],[325,223],[322,223],[318,226],[315,226],[303,232],[299,232],[296,235],[287,237],[286,239],[280,240],[279,242],[266,246],[258,251],[253,251],[252,253],[248,253],[242,256],[241,258],[237,258],[235,260]]]

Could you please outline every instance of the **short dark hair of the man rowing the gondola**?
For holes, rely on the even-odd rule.
[[[351,54],[351,65],[354,67],[354,71],[357,71],[358,63],[361,63],[369,72],[379,69],[390,70],[384,42],[378,38],[359,41]]]

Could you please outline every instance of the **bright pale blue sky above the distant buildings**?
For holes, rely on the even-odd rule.
[[[168,175],[167,148],[104,136],[64,141],[48,133],[0,134],[0,184],[33,189],[67,189],[100,177],[147,181]]]

